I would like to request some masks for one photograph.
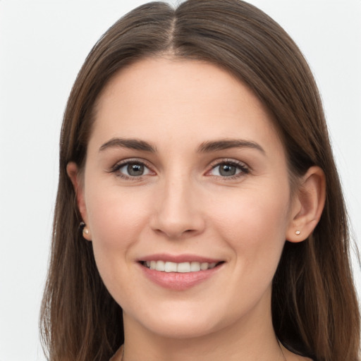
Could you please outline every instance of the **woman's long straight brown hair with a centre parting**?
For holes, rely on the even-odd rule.
[[[272,114],[290,178],[316,165],[326,175],[326,204],[304,242],[283,250],[272,288],[280,341],[318,361],[356,361],[360,314],[350,269],[348,219],[317,86],[286,32],[238,0],[189,0],[173,9],[154,2],[128,13],[95,44],[68,99],[60,142],[59,190],[42,340],[51,361],[108,360],[123,343],[121,307],[111,298],[82,239],[69,161],[83,166],[94,106],[109,79],[137,59],[171,54],[233,73]]]

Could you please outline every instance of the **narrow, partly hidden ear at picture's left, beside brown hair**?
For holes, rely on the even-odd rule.
[[[71,183],[73,183],[78,209],[82,216],[82,220],[85,222],[82,235],[86,240],[91,240],[90,230],[87,226],[87,208],[85,206],[84,186],[78,166],[73,161],[69,162],[66,166],[66,173],[68,173],[68,177],[71,178]]]

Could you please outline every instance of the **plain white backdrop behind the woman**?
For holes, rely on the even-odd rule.
[[[0,361],[44,360],[37,324],[64,107],[93,44],[145,2],[0,0]],[[278,21],[310,62],[360,245],[361,1],[250,2]],[[354,269],[360,293],[356,262]]]

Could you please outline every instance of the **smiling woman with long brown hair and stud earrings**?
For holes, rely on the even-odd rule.
[[[150,3],[106,32],[68,100],[54,219],[50,360],[359,360],[317,87],[254,6]]]

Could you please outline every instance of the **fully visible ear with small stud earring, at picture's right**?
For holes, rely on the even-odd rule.
[[[326,200],[324,171],[312,166],[302,177],[294,195],[286,239],[296,243],[305,240],[317,226]]]

